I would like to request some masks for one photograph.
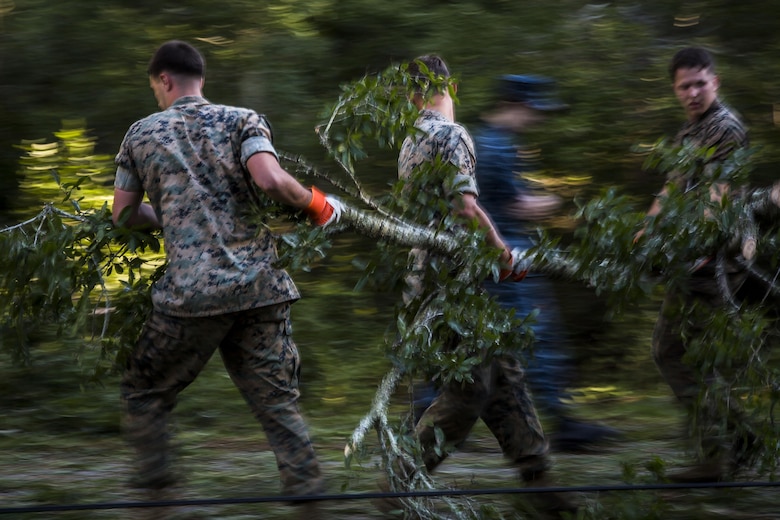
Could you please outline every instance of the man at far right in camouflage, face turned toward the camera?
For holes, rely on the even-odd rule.
[[[682,178],[677,172],[669,174],[668,183],[673,183],[680,189],[691,192],[704,185],[706,177],[712,175],[719,163],[722,163],[735,150],[747,147],[749,143],[747,130],[743,123],[715,95],[717,84],[711,83],[716,81],[712,63],[707,59],[702,61],[703,57],[706,58],[708,54],[701,49],[691,48],[684,49],[678,56],[679,58],[676,57],[673,60],[671,70],[676,90],[679,90],[680,83],[684,83],[685,89],[701,88],[704,91],[712,89],[709,93],[711,96],[709,107],[706,106],[706,100],[701,100],[706,98],[706,93],[695,96],[678,93],[684,107],[691,100],[695,101],[696,104],[692,110],[686,107],[686,110],[694,113],[689,114],[688,121],[678,131],[674,145],[690,145],[696,149],[714,149],[713,154],[707,159],[700,172],[703,177]],[[675,63],[678,63],[677,68],[674,68]],[[691,74],[691,79],[687,79],[684,74],[678,74],[679,69]],[[683,79],[680,79],[681,77]],[[695,113],[696,109],[701,113]],[[736,444],[740,442],[727,438],[731,436],[729,432],[733,432],[736,424],[742,421],[741,410],[735,403],[729,404],[730,410],[728,417],[725,418],[727,431],[723,431],[720,425],[724,421],[718,417],[717,404],[708,399],[711,392],[705,392],[703,401],[698,408],[696,407],[696,401],[702,393],[702,382],[709,385],[714,381],[715,376],[702,374],[696,367],[684,361],[687,338],[691,334],[695,334],[696,331],[703,330],[705,325],[688,323],[683,333],[682,319],[685,313],[681,312],[681,309],[700,306],[702,309],[715,310],[724,304],[723,295],[716,279],[715,267],[712,264],[713,262],[706,263],[691,273],[686,291],[667,292],[653,331],[652,348],[655,363],[675,396],[688,410],[692,422],[692,433],[699,443],[699,463],[689,470],[670,475],[673,480],[681,482],[720,480],[724,470],[722,459],[726,449],[726,441],[733,443],[732,456],[735,455]],[[729,286],[736,292],[744,282],[746,274],[742,268],[731,263],[727,270],[727,277]],[[696,413],[697,411],[698,413]]]

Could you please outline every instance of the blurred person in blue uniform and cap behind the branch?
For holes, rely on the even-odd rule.
[[[504,75],[498,78],[495,102],[482,117],[475,132],[476,177],[480,203],[492,215],[501,236],[510,247],[530,248],[539,221],[554,215],[560,197],[533,189],[522,179],[527,165],[521,159],[521,136],[548,114],[567,105],[555,96],[555,82],[543,76]],[[559,450],[589,448],[617,435],[616,430],[575,418],[568,403],[567,386],[572,381],[570,341],[561,317],[552,282],[533,270],[522,283],[485,288],[518,316],[538,314],[532,324],[533,353],[527,357],[527,380],[540,413],[549,422],[551,440]]]

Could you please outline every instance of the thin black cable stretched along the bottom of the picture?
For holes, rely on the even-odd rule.
[[[0,508],[0,515],[21,513],[44,513],[65,511],[94,511],[105,509],[136,509],[175,506],[218,506],[233,504],[258,504],[268,502],[310,502],[336,500],[370,500],[381,498],[414,498],[463,495],[514,495],[526,493],[599,493],[607,491],[654,491],[669,489],[722,489],[722,488],[770,488],[780,487],[780,481],[758,482],[703,482],[701,484],[614,484],[600,486],[544,487],[544,488],[487,488],[487,489],[443,489],[429,491],[404,491],[383,493],[351,493],[337,495],[291,495],[245,498],[204,498],[189,500],[158,500],[141,502],[102,502],[92,504],[50,504]]]

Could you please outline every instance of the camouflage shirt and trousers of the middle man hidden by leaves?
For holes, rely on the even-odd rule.
[[[423,110],[415,126],[419,134],[404,141],[398,159],[400,178],[410,178],[423,163],[442,160],[458,168],[453,183],[460,193],[479,195],[475,178],[476,156],[471,136],[461,125],[435,111]],[[444,187],[445,193],[448,191]],[[417,253],[418,265],[424,263]],[[415,284],[414,279],[407,283]],[[474,281],[477,285],[478,281]],[[420,296],[419,285],[404,295]],[[455,337],[452,341],[458,341]],[[447,456],[437,453],[436,429],[441,429],[447,445],[457,446],[482,419],[498,440],[504,455],[521,471],[535,476],[548,466],[549,445],[525,385],[520,361],[496,357],[472,371],[473,383],[453,381],[422,414],[415,433],[423,447],[423,461],[429,471]],[[529,479],[532,477],[528,477]]]

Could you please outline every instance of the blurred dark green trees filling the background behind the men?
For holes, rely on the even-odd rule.
[[[86,136],[94,148],[82,159],[87,162],[95,157],[110,159],[124,129],[133,120],[155,110],[146,83],[149,55],[161,41],[182,38],[195,41],[207,56],[206,93],[210,99],[248,105],[266,113],[275,126],[277,146],[289,152],[291,159],[302,155],[309,161],[302,167],[301,175],[309,175],[312,167],[330,175],[337,168],[321,146],[320,136],[313,130],[316,121],[327,119],[333,109],[332,100],[343,95],[341,84],[364,73],[369,73],[370,77],[394,61],[435,51],[448,59],[461,82],[458,118],[467,124],[477,122],[490,98],[491,80],[497,74],[539,72],[559,81],[561,97],[572,108],[564,117],[550,121],[543,132],[529,136],[528,144],[543,150],[541,164],[545,170],[541,173],[546,174],[544,180],[572,199],[569,208],[578,211],[578,218],[588,224],[576,236],[572,227],[555,229],[553,236],[562,237],[561,241],[556,242],[551,237],[550,242],[543,242],[545,247],[537,251],[537,260],[546,269],[554,271],[554,266],[559,264],[553,260],[547,263],[544,251],[548,251],[551,258],[560,260],[562,257],[557,253],[563,249],[562,244],[576,244],[583,255],[579,264],[583,270],[566,263],[567,276],[571,275],[570,268],[574,269],[573,276],[580,280],[578,287],[592,286],[587,294],[593,295],[596,288],[601,288],[603,292],[599,299],[612,294],[613,302],[622,302],[630,309],[632,302],[640,297],[649,295],[651,300],[656,299],[663,283],[658,278],[629,276],[638,269],[635,262],[641,255],[630,255],[625,241],[635,223],[634,217],[646,208],[662,179],[660,175],[656,177],[643,170],[642,164],[657,138],[673,133],[681,122],[679,107],[669,88],[667,61],[674,50],[690,43],[704,44],[715,51],[723,78],[724,98],[745,116],[752,142],[757,145],[750,161],[751,185],[756,188],[768,186],[774,180],[780,150],[776,145],[778,135],[774,116],[780,88],[775,81],[779,71],[774,58],[778,46],[775,36],[778,17],[772,16],[774,10],[775,7],[754,0],[739,3],[721,0],[619,1],[606,5],[574,0],[554,5],[504,0],[400,0],[392,6],[378,0],[272,3],[230,0],[220,4],[219,9],[214,9],[213,3],[201,1],[185,4],[118,1],[105,5],[40,0],[0,2],[0,221],[15,226],[20,221],[34,218],[42,202],[56,202],[49,206],[51,209],[45,215],[47,226],[59,230],[57,233],[74,233],[71,236],[79,237],[83,249],[65,248],[63,244],[67,242],[52,241],[47,243],[46,251],[67,249],[68,253],[83,259],[90,247],[114,244],[112,251],[122,251],[121,255],[125,255],[122,258],[129,264],[125,265],[125,260],[116,257],[108,290],[112,292],[118,288],[113,285],[116,265],[123,266],[122,275],[139,269],[140,274],[132,284],[124,287],[125,292],[112,293],[112,296],[126,295],[127,299],[122,301],[128,308],[138,311],[145,305],[146,284],[153,277],[156,265],[146,263],[148,253],[134,256],[132,250],[143,244],[152,247],[154,242],[147,242],[147,237],[141,236],[111,235],[115,230],[101,228],[99,217],[94,221],[63,220],[59,211],[73,214],[73,205],[70,201],[59,205],[62,194],[56,186],[44,186],[40,175],[31,174],[27,165],[19,168],[20,152],[16,145],[23,140],[43,138],[43,141],[36,141],[37,144],[56,144],[57,160],[64,161],[69,154],[73,155],[73,149],[66,151],[68,146],[65,144],[71,140],[71,134],[57,132],[52,138],[52,130],[68,127],[62,125],[62,121],[84,120],[86,122],[77,128],[83,130],[86,126],[88,130],[82,132],[82,137]],[[350,83],[347,88],[353,87]],[[326,104],[329,109],[323,112],[322,107]],[[74,141],[81,141],[82,137]],[[24,153],[32,151],[31,144],[25,144]],[[388,184],[396,176],[396,151],[382,149],[370,137],[365,139],[362,149],[367,156],[358,161],[360,181],[368,193],[376,195],[378,202],[384,204],[382,195],[388,192]],[[61,168],[66,162],[58,162],[56,167],[49,165],[47,170]],[[295,164],[288,163],[291,167]],[[110,171],[105,173],[107,176],[97,183],[82,182],[71,192],[71,198],[79,199],[85,193],[106,197],[101,190],[110,190],[107,185],[111,175]],[[67,175],[61,178],[67,183],[73,182]],[[580,184],[583,178],[590,182]],[[613,185],[620,188],[603,191],[605,186]],[[350,193],[347,198],[357,200]],[[580,200],[579,206],[573,202],[572,195],[575,194]],[[760,206],[768,200],[766,193],[760,191],[756,198],[759,202],[751,201],[751,204]],[[361,205],[361,209],[365,208]],[[679,209],[683,211],[683,206]],[[770,210],[757,213],[763,214],[762,218],[767,219],[769,225],[759,219],[762,227],[756,266],[771,279],[775,272],[773,251],[776,249],[775,231],[771,225],[773,217]],[[732,212],[726,214],[733,215]],[[39,226],[40,220],[35,222],[34,230],[46,229]],[[282,219],[281,222],[285,221]],[[288,230],[288,224],[281,222],[275,221],[275,224]],[[674,219],[667,224],[676,225]],[[673,227],[663,229],[671,231]],[[30,228],[26,231],[24,240],[36,236],[37,231]],[[704,237],[720,232],[707,228],[706,233],[697,235],[694,231],[688,230],[683,236],[709,240]],[[4,232],[3,236],[9,236],[9,233]],[[3,247],[15,247],[20,252],[24,240],[8,241]],[[328,237],[302,235],[300,240],[303,245],[312,241],[324,250]],[[348,255],[339,245],[345,241],[349,241],[344,248],[349,250]],[[620,247],[616,248],[616,244]],[[691,254],[696,247],[703,246],[699,243],[676,244],[681,248],[680,254]],[[333,268],[333,263],[353,260],[359,261],[361,266],[373,265],[379,269],[383,265],[382,257],[373,256],[375,245],[375,240],[364,240],[358,234],[340,235],[334,242],[338,261],[332,258],[336,255],[330,250],[330,258],[312,267],[311,279],[321,283],[324,277],[318,275],[327,269],[329,279],[333,281],[324,290],[330,291],[329,296],[334,298],[344,286],[350,286],[354,278],[345,274],[345,270]],[[592,247],[583,247],[586,245]],[[73,318],[85,316],[88,309],[87,321],[79,322],[76,328],[63,329],[63,332],[80,335],[85,330],[81,325],[89,325],[89,334],[95,331],[99,336],[105,322],[104,315],[98,311],[105,302],[98,305],[99,300],[74,302],[67,298],[68,291],[78,292],[84,287],[93,288],[96,296],[101,294],[99,277],[90,281],[86,274],[90,269],[89,262],[76,261],[74,257],[63,258],[56,264],[49,259],[47,264],[43,249],[30,248],[26,254],[29,255],[27,263],[7,262],[3,272],[17,272],[17,269],[32,267],[38,262],[41,276],[36,281],[51,284],[43,287],[53,288],[54,292],[41,290],[40,285],[38,288],[32,285],[14,288],[22,291],[20,294],[25,297],[38,298],[31,300],[37,302],[48,300],[51,303],[56,298],[49,294],[59,295],[63,314],[36,314],[38,307],[31,307],[32,312],[24,315],[24,320],[30,321],[16,323],[27,326],[28,332],[35,333],[32,339],[36,340],[41,329],[30,328],[32,324],[64,318],[71,319],[69,323],[76,323]],[[587,258],[590,260],[586,261]],[[604,269],[598,274],[586,269],[594,260],[605,258],[610,259],[614,270]],[[296,264],[295,257],[289,259],[295,267],[311,265],[311,260],[303,258]],[[484,260],[487,262],[488,258]],[[653,259],[656,261],[661,259]],[[481,265],[487,268],[487,264]],[[388,268],[388,271],[393,270]],[[389,296],[385,300],[390,301],[382,301],[382,296],[375,300],[360,299],[369,309],[380,305],[393,307],[392,297],[397,296],[392,292],[394,289],[389,288],[393,285],[392,273],[379,274],[388,275],[385,287],[388,287]],[[72,276],[83,276],[86,285],[77,284]],[[307,283],[306,273],[299,279]],[[608,289],[610,284],[613,284],[612,289]],[[620,291],[626,292],[615,292],[620,288],[619,284],[623,284]],[[13,286],[9,284],[8,287]],[[766,417],[765,407],[775,401],[776,377],[772,372],[774,357],[764,350],[764,346],[771,345],[774,340],[767,333],[774,323],[772,306],[768,305],[773,293],[767,292],[766,286],[762,287],[761,291],[768,296],[758,311],[745,309],[744,316],[750,319],[740,321],[741,325],[736,328],[717,329],[721,331],[718,340],[721,344],[730,341],[731,345],[744,346],[748,350],[729,353],[728,349],[718,348],[701,355],[716,356],[705,361],[713,364],[727,363],[730,359],[747,361],[746,366],[751,367],[748,371],[725,370],[726,367],[718,365],[736,377],[731,381],[738,386],[725,388],[723,395],[745,398],[751,409]],[[33,291],[37,292],[32,294]],[[87,301],[89,305],[84,306]],[[592,302],[593,298],[588,301]],[[78,302],[81,303],[77,305]],[[12,311],[16,312],[16,308]],[[323,315],[331,320],[343,319],[337,309],[326,311]],[[138,314],[123,313],[132,319]],[[721,324],[736,323],[729,317],[718,319]],[[15,335],[19,330],[9,328],[13,322],[5,323],[11,325],[3,330],[2,352],[21,354],[19,359],[23,360],[25,344]],[[345,324],[354,325],[352,322]],[[113,322],[111,327],[114,326],[117,328],[109,329],[110,334],[105,336],[114,342],[120,341],[121,335],[116,335],[120,327],[128,332],[135,327],[132,320],[126,324]],[[751,330],[753,332],[748,335]],[[628,335],[633,332],[633,329],[620,331]],[[748,337],[763,338],[761,348],[754,348],[757,344],[747,341]],[[727,338],[731,339],[726,341]],[[735,343],[733,338],[740,338],[740,341]],[[637,350],[642,348],[641,342],[626,348],[626,343],[633,342],[621,339],[621,342],[600,345],[599,355],[620,360],[636,356]],[[36,343],[27,345],[31,344],[38,346]],[[117,344],[106,346],[108,352],[117,351]],[[59,348],[67,352],[67,347]],[[750,356],[746,352],[756,354]],[[89,361],[90,368],[93,361]],[[100,360],[98,366],[106,370],[114,361],[108,356]],[[613,370],[606,377],[617,372]],[[316,371],[314,373],[314,378],[322,377]],[[646,374],[640,376],[648,377]],[[743,383],[747,386],[742,386]],[[365,381],[365,384],[372,385],[374,381]],[[8,395],[12,394],[9,392]],[[764,433],[771,439],[775,431],[769,422],[765,424]],[[768,471],[771,468],[771,465],[767,466]]]

